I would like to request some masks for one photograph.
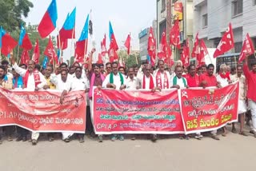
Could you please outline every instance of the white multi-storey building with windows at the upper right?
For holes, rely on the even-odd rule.
[[[203,38],[206,46],[216,48],[229,23],[234,33],[234,50],[227,54],[237,55],[242,49],[246,34],[250,34],[256,45],[256,0],[194,0],[194,38],[197,32],[199,39]],[[234,54],[236,53],[236,54]],[[226,54],[219,62],[231,62],[234,59]]]

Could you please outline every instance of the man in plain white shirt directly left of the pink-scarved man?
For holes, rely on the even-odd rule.
[[[85,93],[89,92],[89,80],[87,78],[82,78],[82,67],[77,66],[74,70],[75,78],[72,81],[71,91],[83,90]],[[86,115],[86,113],[85,113]],[[78,133],[79,142],[84,142],[84,133]]]

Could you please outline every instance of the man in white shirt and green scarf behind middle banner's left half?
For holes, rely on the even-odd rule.
[[[118,62],[112,63],[112,72],[106,76],[104,82],[102,83],[102,87],[120,90],[126,89],[126,78],[123,74],[118,72]],[[113,134],[111,140],[115,141],[117,139],[124,141],[122,134]]]

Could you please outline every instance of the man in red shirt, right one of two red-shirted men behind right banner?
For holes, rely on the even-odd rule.
[[[199,78],[199,85],[202,86],[203,88],[206,87],[213,87],[213,88],[217,88],[220,87],[219,83],[217,82],[217,78],[214,76],[214,65],[213,64],[209,64],[207,66],[207,70],[205,74],[200,75]],[[214,131],[210,132],[212,134],[212,138],[214,140],[219,140],[219,138],[217,137],[217,129]]]

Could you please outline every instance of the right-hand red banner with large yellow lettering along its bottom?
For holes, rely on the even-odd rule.
[[[182,89],[182,120],[186,133],[206,132],[238,121],[239,83],[222,89]]]

